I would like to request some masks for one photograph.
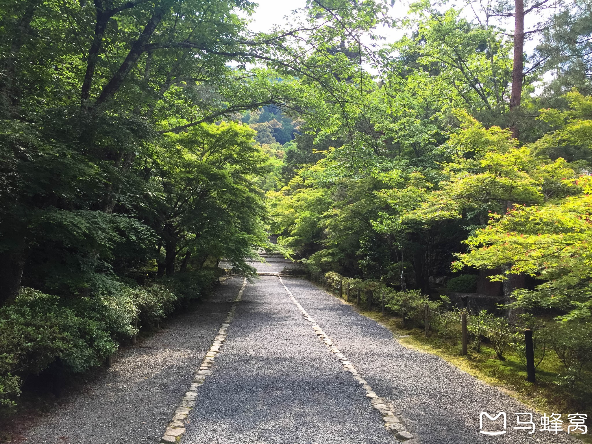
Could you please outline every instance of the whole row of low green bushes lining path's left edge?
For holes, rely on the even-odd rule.
[[[14,303],[0,308],[0,407],[15,406],[21,381],[57,360],[71,374],[101,365],[137,333],[136,318],[153,325],[206,295],[217,278],[214,270],[179,273],[78,298],[22,288]]]

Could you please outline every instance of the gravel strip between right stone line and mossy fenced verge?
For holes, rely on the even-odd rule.
[[[420,443],[581,443],[567,433],[554,435],[539,431],[539,414],[536,413],[533,415],[535,433],[529,435],[527,430],[513,430],[517,425],[515,412],[534,413],[524,404],[437,356],[403,347],[385,327],[356,313],[350,305],[311,282],[283,279],[298,302],[348,356],[377,394],[398,408],[407,430]],[[481,411],[494,413],[493,416],[506,412],[507,433],[498,436],[479,433]],[[559,413],[564,414],[562,420],[567,429],[567,414],[575,412]],[[491,424],[487,420],[484,422],[486,426],[488,423]],[[484,430],[502,430],[491,425]]]

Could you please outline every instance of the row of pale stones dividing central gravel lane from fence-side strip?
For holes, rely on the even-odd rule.
[[[300,310],[300,313],[302,313],[302,316],[304,317],[304,319],[307,320],[308,323],[311,324],[317,337],[319,339],[323,340],[324,345],[326,345],[327,348],[330,350],[330,352],[332,352],[335,355],[335,357],[337,359],[339,359],[339,361],[343,365],[343,369],[345,371],[349,372],[352,375],[353,379],[358,381],[358,384],[362,385],[362,387],[366,391],[366,398],[370,398],[370,400],[371,400],[370,403],[371,403],[372,407],[375,408],[375,410],[379,411],[379,413],[381,414],[382,420],[385,422],[385,427],[388,430],[391,430],[393,433],[396,433],[397,438],[405,441],[406,444],[417,444],[417,440],[413,439],[413,435],[411,435],[411,433],[409,433],[407,430],[405,430],[405,426],[403,424],[401,424],[400,420],[394,416],[394,413],[392,413],[391,410],[389,410],[389,407],[387,406],[387,401],[382,400],[381,398],[378,397],[378,395],[374,392],[374,390],[372,390],[372,387],[370,387],[370,385],[368,385],[368,382],[366,382],[365,379],[363,379],[359,375],[358,371],[352,365],[352,363],[349,362],[348,358],[346,358],[346,356],[343,355],[343,353],[340,352],[340,350],[336,346],[333,345],[333,342],[330,339],[330,337],[327,336],[327,334],[325,332],[323,332],[323,329],[321,329],[321,327],[318,326],[316,321],[312,317],[310,317],[310,315],[307,313],[306,310],[304,310],[304,307],[302,305],[300,305],[300,303],[294,297],[292,292],[289,291],[288,287],[286,287],[286,285],[284,284],[284,281],[282,281],[281,274],[278,274],[278,279],[279,279],[279,282],[281,282],[281,284],[284,286],[284,289],[287,292],[288,296],[291,298],[292,302],[298,307],[298,310]],[[241,291],[242,291],[242,289],[241,289]],[[163,441],[163,442],[173,442],[173,441]]]

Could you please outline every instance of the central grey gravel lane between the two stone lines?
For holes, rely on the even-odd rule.
[[[184,444],[395,443],[275,276],[247,285]]]

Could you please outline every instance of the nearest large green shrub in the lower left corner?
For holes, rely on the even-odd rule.
[[[117,348],[107,330],[110,308],[105,301],[102,316],[85,317],[77,309],[89,301],[69,301],[22,288],[13,304],[0,308],[0,404],[11,406],[19,394],[20,377],[38,374],[57,358],[66,371],[83,372],[98,365]],[[84,313],[84,312],[82,312]],[[105,316],[107,315],[107,316]],[[99,319],[101,318],[102,319]]]

